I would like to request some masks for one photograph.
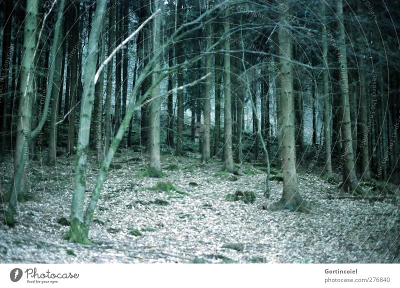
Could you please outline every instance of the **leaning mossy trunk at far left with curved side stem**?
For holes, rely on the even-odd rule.
[[[29,11],[24,19],[24,34],[23,34],[23,51],[24,57],[21,61],[21,78],[20,78],[20,100],[19,100],[19,112],[18,112],[18,126],[17,126],[17,141],[15,148],[15,167],[14,181],[10,189],[10,198],[8,203],[8,209],[5,214],[5,223],[7,225],[14,225],[14,209],[17,200],[20,196],[26,198],[29,195],[25,185],[25,171],[27,170],[26,161],[29,157],[29,144],[34,139],[39,131],[43,128],[44,121],[47,117],[48,105],[50,102],[50,96],[52,91],[52,84],[55,73],[55,54],[58,46],[58,39],[61,29],[61,17],[64,7],[64,0],[61,0],[58,4],[57,22],[54,29],[53,44],[51,46],[51,66],[48,74],[48,84],[46,90],[46,98],[44,101],[43,114],[37,127],[31,130],[31,109],[33,99],[33,79],[34,70],[33,65],[35,54],[36,54],[36,31],[37,31],[37,12],[38,12],[38,1],[27,0],[26,11]]]

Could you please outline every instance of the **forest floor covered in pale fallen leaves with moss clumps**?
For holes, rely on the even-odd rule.
[[[311,213],[270,212],[262,207],[280,199],[282,182],[272,181],[265,199],[264,168],[243,163],[240,170],[247,174],[236,178],[219,172],[221,162],[199,165],[194,154],[165,154],[161,179],[138,176],[147,167],[146,155],[122,149],[115,156],[90,227],[93,246],[62,239],[68,227],[59,220],[69,218],[74,159],[59,157],[55,167],[40,157],[32,161],[33,199],[18,204],[15,227],[4,225],[7,206],[0,206],[0,263],[399,261],[396,194],[380,202],[334,199],[336,186],[299,174],[300,194],[312,204]],[[98,168],[93,155],[88,160],[86,198]],[[11,159],[3,161],[0,189],[8,189],[10,167]],[[176,190],[157,191],[159,181],[170,181]],[[236,191],[257,197],[253,203],[231,201],[226,195]],[[222,248],[226,244],[236,244],[231,247],[236,250]]]

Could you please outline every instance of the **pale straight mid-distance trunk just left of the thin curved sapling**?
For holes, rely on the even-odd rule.
[[[226,18],[229,17],[229,11],[226,9],[225,11]],[[230,24],[229,21],[225,21],[223,24],[223,29],[225,34],[229,33]],[[230,50],[230,42],[224,41],[224,50]],[[223,55],[223,135],[224,135],[224,145],[223,145],[223,160],[225,170],[227,172],[233,173],[235,171],[235,167],[233,164],[233,155],[232,155],[232,118],[231,118],[231,98],[230,98],[230,54],[229,52],[225,52]]]

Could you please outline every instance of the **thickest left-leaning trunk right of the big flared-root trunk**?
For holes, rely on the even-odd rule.
[[[353,191],[357,186],[357,176],[354,170],[354,153],[351,138],[351,119],[350,119],[350,105],[348,95],[348,79],[347,79],[347,54],[345,45],[345,33],[343,26],[343,3],[342,0],[337,1],[337,16],[339,18],[339,53],[338,57],[341,60],[341,71],[340,71],[340,84],[341,84],[341,107],[342,107],[342,119],[341,124],[341,135],[343,143],[343,151],[341,154],[341,160],[343,163],[343,183],[341,188],[344,191]]]

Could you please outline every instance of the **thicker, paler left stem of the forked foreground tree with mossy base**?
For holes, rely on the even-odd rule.
[[[106,0],[98,0],[95,10],[95,18],[100,18],[104,13]],[[85,59],[83,101],[80,105],[80,123],[78,130],[78,141],[76,145],[75,158],[75,190],[72,195],[71,213],[70,213],[70,231],[66,238],[72,242],[80,244],[89,244],[85,227],[83,226],[83,201],[86,189],[85,168],[87,160],[87,149],[89,145],[89,133],[91,121],[91,110],[94,100],[94,81],[93,75],[96,72],[97,43],[101,30],[101,21],[93,23],[91,26],[87,57]]]

